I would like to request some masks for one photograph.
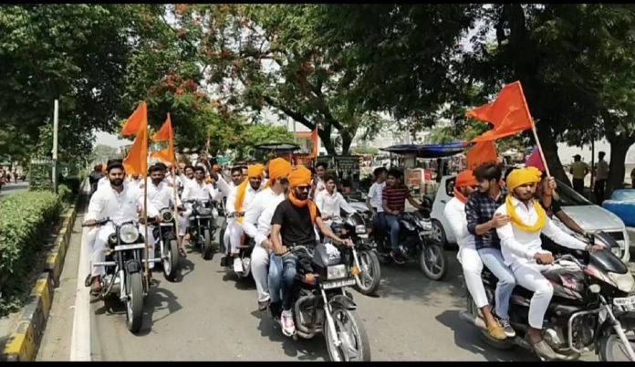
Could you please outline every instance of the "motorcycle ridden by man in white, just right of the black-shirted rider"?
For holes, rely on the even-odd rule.
[[[381,267],[366,222],[359,213],[335,216],[331,220],[333,232],[340,238],[349,238],[353,242],[353,262],[349,266],[359,267],[361,270],[359,275],[354,276],[355,288],[364,295],[374,293],[380,287]]]

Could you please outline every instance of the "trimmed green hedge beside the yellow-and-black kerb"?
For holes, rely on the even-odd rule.
[[[27,277],[57,222],[61,204],[56,194],[26,192],[3,197],[0,208],[1,317],[26,300]]]

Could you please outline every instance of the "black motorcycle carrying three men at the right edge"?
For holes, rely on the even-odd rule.
[[[611,251],[619,245],[606,233],[593,237],[594,243],[602,243],[607,249],[587,253],[563,248],[554,261],[560,267],[543,272],[554,288],[543,324],[543,338],[558,354],[558,360],[574,361],[584,351],[595,351],[600,361],[635,362],[635,280]],[[482,278],[490,304],[494,304],[497,279],[486,268]],[[510,322],[517,334],[524,335],[527,329],[532,296],[525,288],[516,287],[510,299]],[[492,339],[469,294],[467,310],[461,311],[460,318],[477,326],[481,338],[495,348],[518,345],[531,350],[522,335],[513,340]]]

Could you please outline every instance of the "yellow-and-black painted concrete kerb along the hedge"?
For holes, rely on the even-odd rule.
[[[64,267],[70,235],[77,217],[79,198],[73,209],[62,215],[63,224],[55,240],[55,246],[47,257],[45,271],[37,278],[31,290],[29,302],[22,311],[16,328],[5,345],[3,359],[7,362],[36,360],[39,343],[47,327],[48,314],[53,303],[55,288]]]

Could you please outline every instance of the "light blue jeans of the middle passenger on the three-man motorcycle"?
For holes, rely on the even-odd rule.
[[[515,287],[515,278],[512,270],[505,265],[503,254],[498,248],[481,248],[478,250],[485,267],[487,267],[496,278],[495,313],[501,319],[509,318],[509,299]]]

